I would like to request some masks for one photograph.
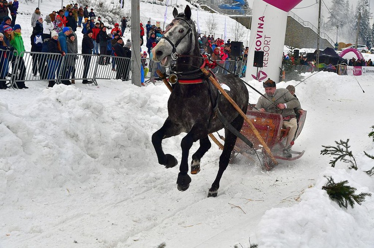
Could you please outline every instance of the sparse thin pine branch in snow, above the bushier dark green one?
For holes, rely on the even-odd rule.
[[[331,164],[332,167],[335,167],[335,164],[340,160],[344,163],[351,164],[351,167],[349,167],[349,168],[353,168],[355,170],[358,169],[355,157],[353,157],[353,155],[352,155],[352,151],[348,150],[348,148],[350,148],[350,146],[348,145],[349,141],[350,141],[349,139],[347,139],[347,141],[342,141],[342,140],[340,140],[340,142],[335,141],[335,144],[337,144],[336,147],[322,146],[322,147],[325,148],[324,150],[321,151],[322,155],[334,155],[334,156],[336,156],[336,157],[333,158],[333,160],[330,160],[329,164]],[[346,157],[348,157],[348,159],[346,159]]]

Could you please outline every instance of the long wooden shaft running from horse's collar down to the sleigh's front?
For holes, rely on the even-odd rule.
[[[201,71],[208,76],[209,72],[205,70],[205,68],[201,68]],[[266,145],[265,141],[262,139],[261,135],[258,133],[257,129],[253,126],[253,123],[249,120],[249,118],[243,113],[241,108],[236,104],[236,102],[227,94],[227,92],[219,85],[219,83],[213,78],[212,75],[209,77],[210,81],[217,87],[217,89],[226,97],[226,99],[232,104],[232,106],[236,109],[236,111],[244,118],[244,120],[249,124],[250,128],[252,129],[253,133],[256,135],[258,141],[264,147],[265,152],[270,156],[270,159],[274,162],[275,165],[278,165],[278,162],[275,160],[273,154],[270,151],[270,148]]]

